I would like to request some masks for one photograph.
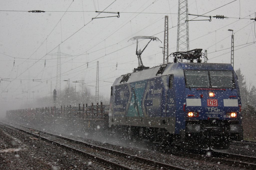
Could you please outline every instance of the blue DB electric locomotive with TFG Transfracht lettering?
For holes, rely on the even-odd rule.
[[[131,138],[185,149],[226,149],[232,139],[242,140],[233,67],[201,63],[200,52],[173,53],[174,63],[117,78],[111,87],[109,127]],[[190,63],[177,62],[183,59]]]

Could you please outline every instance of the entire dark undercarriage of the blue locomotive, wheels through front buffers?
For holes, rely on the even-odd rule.
[[[231,127],[231,128],[230,128]],[[161,147],[183,149],[228,149],[232,140],[242,140],[242,126],[227,120],[187,121],[180,134],[170,134],[164,128],[115,125],[115,132],[125,132],[128,140],[149,140]]]

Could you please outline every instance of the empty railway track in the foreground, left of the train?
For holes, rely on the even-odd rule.
[[[10,126],[5,124],[6,126]],[[20,126],[20,125],[17,125]],[[11,126],[14,127],[14,126]],[[72,150],[78,154],[91,157],[95,162],[100,162],[102,164],[107,165],[109,168],[115,169],[150,169],[150,170],[160,170],[160,169],[183,169],[185,168],[173,166],[149,159],[145,159],[142,157],[138,157],[135,155],[127,154],[124,152],[115,151],[108,148],[99,147],[93,144],[84,143],[76,140],[72,140],[65,137],[60,137],[57,135],[53,135],[51,133],[43,132],[36,129],[31,129],[25,126],[21,126],[23,129],[18,127],[14,127],[19,131],[25,132],[29,135],[34,136],[35,138],[45,140],[47,142],[53,143],[55,145],[61,146],[65,149]],[[24,130],[27,129],[27,130]],[[29,131],[33,131],[32,133]],[[40,136],[34,134],[34,130],[36,132],[40,132]],[[108,168],[106,168],[108,169]]]

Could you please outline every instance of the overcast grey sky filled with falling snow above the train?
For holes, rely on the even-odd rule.
[[[72,81],[84,80],[94,91],[99,61],[99,91],[104,96],[110,95],[109,82],[138,66],[136,43],[128,42],[130,38],[154,36],[163,42],[165,15],[169,16],[169,53],[176,52],[178,0],[0,1],[0,77],[7,80],[0,84],[2,110],[18,108],[26,102],[27,95],[29,98],[50,95],[50,82],[53,90],[57,74],[57,56],[51,54],[58,52],[58,45],[62,53],[70,55],[61,56],[61,80],[70,79],[72,86]],[[210,63],[230,63],[231,32],[228,29],[233,29],[234,69],[241,68],[248,86],[250,83],[252,86],[256,85],[255,44],[252,43],[256,35],[255,21],[250,18],[255,18],[256,1],[233,1],[188,0],[190,14],[228,17],[212,18],[211,22],[189,21],[189,49],[207,50]],[[29,10],[46,12],[29,13]],[[116,15],[99,14],[95,10],[120,12],[120,18],[92,20]],[[140,42],[139,47],[143,48],[146,43],[146,40]],[[162,46],[160,41],[148,45],[142,54],[145,66],[162,63],[162,48],[159,48]],[[33,82],[33,79],[42,82]],[[62,81],[61,88],[66,86]]]

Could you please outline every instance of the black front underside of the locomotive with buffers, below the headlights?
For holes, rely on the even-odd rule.
[[[178,143],[185,149],[228,149],[232,140],[243,140],[242,125],[238,123],[217,119],[187,121]]]

